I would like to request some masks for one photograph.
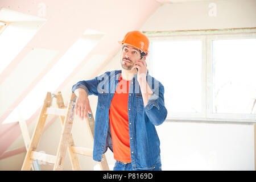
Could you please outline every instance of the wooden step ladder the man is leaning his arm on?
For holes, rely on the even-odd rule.
[[[52,96],[56,98],[58,108],[51,107]],[[47,163],[54,164],[54,167],[53,167],[54,171],[62,170],[64,158],[67,150],[68,150],[69,158],[71,160],[72,169],[79,171],[81,170],[81,168],[79,165],[77,154],[91,156],[91,157],[93,156],[92,149],[85,148],[85,147],[77,147],[74,144],[71,131],[72,131],[72,125],[73,125],[73,118],[75,114],[75,104],[76,104],[76,95],[73,92],[71,94],[67,107],[65,107],[64,105],[61,92],[58,92],[57,95],[51,94],[51,92],[47,92],[46,98],[44,100],[44,104],[40,111],[38,122],[36,123],[36,127],[32,135],[30,146],[28,147],[28,150],[22,165],[22,171],[29,171],[31,169],[33,160],[41,160]],[[62,126],[61,138],[60,138],[59,147],[57,149],[56,156],[44,154],[43,152],[36,151],[36,149],[38,148],[40,138],[42,137],[42,134],[43,134],[44,125],[46,123],[48,114],[59,115],[61,126]],[[92,114],[90,114],[89,117],[86,118],[86,123],[89,128],[92,140],[94,140],[94,137],[93,137],[94,136],[94,118]],[[105,154],[102,155],[102,160],[101,162],[99,162],[99,164],[100,164],[101,170],[109,171],[109,166],[108,166]]]

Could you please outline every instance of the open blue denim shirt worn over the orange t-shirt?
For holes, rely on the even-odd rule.
[[[100,162],[102,154],[108,148],[113,152],[109,127],[109,108],[117,88],[121,70],[105,72],[92,80],[79,81],[72,86],[72,92],[83,88],[89,95],[98,96],[95,116],[93,159]],[[164,86],[154,77],[148,75],[147,83],[153,94],[146,106],[142,93],[134,75],[129,87],[128,123],[131,164],[133,169],[152,169],[160,162],[160,141],[155,126],[164,122],[167,109],[164,106]]]

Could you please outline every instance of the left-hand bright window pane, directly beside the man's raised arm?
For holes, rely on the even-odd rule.
[[[201,113],[201,40],[152,42],[152,74],[165,86],[167,110]]]

